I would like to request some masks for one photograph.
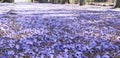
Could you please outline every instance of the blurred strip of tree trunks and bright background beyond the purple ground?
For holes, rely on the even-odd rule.
[[[119,0],[0,0],[1,3],[53,3],[53,4],[79,4],[115,6],[120,4]],[[118,3],[117,3],[118,2]],[[119,5],[120,6],[120,5]],[[117,7],[117,6],[116,6]]]

